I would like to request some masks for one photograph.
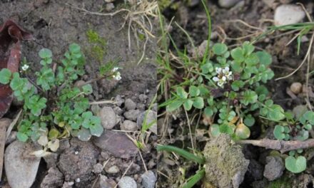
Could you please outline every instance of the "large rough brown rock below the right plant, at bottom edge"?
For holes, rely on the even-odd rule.
[[[232,142],[229,135],[221,134],[206,143],[203,154],[206,182],[220,188],[239,187],[249,164],[240,145]]]

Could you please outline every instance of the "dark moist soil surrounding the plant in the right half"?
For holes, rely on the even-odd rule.
[[[265,0],[266,1],[266,0]],[[208,21],[206,18],[206,12],[203,9],[201,1],[190,1],[191,4],[183,3],[182,1],[174,1],[176,6],[169,6],[163,10],[163,15],[166,17],[168,23],[172,20],[177,21],[186,32],[191,36],[195,46],[201,45],[204,40],[208,38]],[[273,19],[274,11],[277,6],[282,4],[279,1],[274,1],[272,6],[268,6],[264,1],[245,0],[242,4],[233,6],[231,9],[224,9],[218,5],[218,1],[206,1],[208,9],[211,13],[212,33],[211,41],[213,43],[224,41],[230,48],[233,48],[243,41],[250,41],[251,37],[239,38],[242,36],[248,36],[250,33],[254,33],[252,28],[244,26],[242,23],[236,22],[236,20],[242,20],[245,23],[261,28],[263,31],[268,26],[272,26],[273,23],[267,20]],[[295,4],[297,1],[290,1],[290,4]],[[313,1],[298,1],[303,3],[308,13],[313,16]],[[173,5],[172,4],[172,5]],[[191,48],[190,42],[186,37],[186,34],[178,28],[175,24],[170,27],[171,36],[173,41],[176,42],[176,46],[181,49]],[[279,78],[288,75],[297,68],[303,61],[303,57],[308,49],[308,42],[302,43],[300,48],[300,54],[297,54],[296,40],[290,45],[286,46],[293,34],[279,36],[282,33],[276,31],[270,36],[266,36],[263,40],[255,43],[256,48],[265,49],[273,56],[273,63],[270,68],[275,73],[275,78]],[[310,36],[307,36],[308,38]],[[232,39],[236,38],[236,39]],[[225,40],[224,40],[225,39]],[[175,51],[173,45],[170,44],[170,48]],[[268,90],[272,93],[272,99],[274,103],[281,105],[285,110],[293,110],[297,105],[305,105],[305,97],[301,93],[299,95],[291,95],[289,92],[290,85],[294,82],[305,83],[306,66],[300,68],[300,70],[289,78],[285,78],[278,81],[271,81],[268,83]],[[313,78],[309,80],[309,88],[313,89]],[[313,104],[313,95],[310,97],[310,103]],[[163,112],[160,112],[163,113]],[[194,117],[195,112],[190,114],[190,120]],[[190,136],[188,135],[188,125],[186,122],[186,115],[184,111],[176,112],[172,117],[168,117],[168,123],[165,121],[167,117],[161,117],[158,119],[158,130],[160,142],[163,145],[176,145],[181,148],[192,148]],[[196,128],[196,120],[192,124],[192,132],[196,137],[196,148],[202,151],[208,141],[208,135],[206,136],[206,127],[199,125]],[[166,123],[165,123],[166,122]],[[259,123],[261,124],[261,122]],[[164,128],[166,127],[166,128]],[[250,139],[260,139],[265,137],[260,130],[261,126],[254,126],[251,130]],[[263,125],[265,132],[269,132],[272,135],[272,130],[268,128],[268,125]],[[165,133],[166,132],[166,133]],[[205,138],[204,136],[205,135]],[[270,137],[271,138],[271,137]],[[312,180],[308,180],[306,177],[313,178],[313,160],[308,161],[308,169],[301,174],[292,174],[285,170],[283,176],[275,182],[268,182],[263,177],[263,169],[265,166],[265,157],[268,156],[269,150],[265,150],[260,147],[253,147],[251,145],[245,145],[243,147],[243,153],[247,160],[250,160],[248,171],[245,174],[243,183],[240,187],[313,187]],[[162,155],[158,155],[158,170],[162,174],[158,174],[158,187],[178,187],[178,184],[182,184],[185,178],[195,174],[198,166],[186,160],[176,160],[171,155],[163,152]],[[181,167],[181,171],[179,171]],[[181,174],[185,169],[185,176]],[[287,182],[287,184],[277,184],[277,182]],[[195,187],[201,187],[202,183],[196,184]],[[203,186],[205,186],[203,184]]]

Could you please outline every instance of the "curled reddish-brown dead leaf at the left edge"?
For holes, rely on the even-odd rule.
[[[21,40],[31,40],[31,33],[24,31],[14,21],[8,20],[0,27],[0,70],[9,68],[19,71],[21,60]],[[9,110],[13,95],[9,85],[0,84],[0,118]]]

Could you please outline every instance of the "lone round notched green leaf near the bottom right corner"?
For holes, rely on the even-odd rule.
[[[285,168],[293,173],[300,173],[306,169],[306,159],[303,156],[295,157],[289,156],[285,158]]]

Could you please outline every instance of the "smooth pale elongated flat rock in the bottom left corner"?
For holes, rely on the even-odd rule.
[[[41,150],[40,146],[14,141],[6,147],[4,167],[11,188],[29,188],[34,183],[41,158],[29,153]]]

